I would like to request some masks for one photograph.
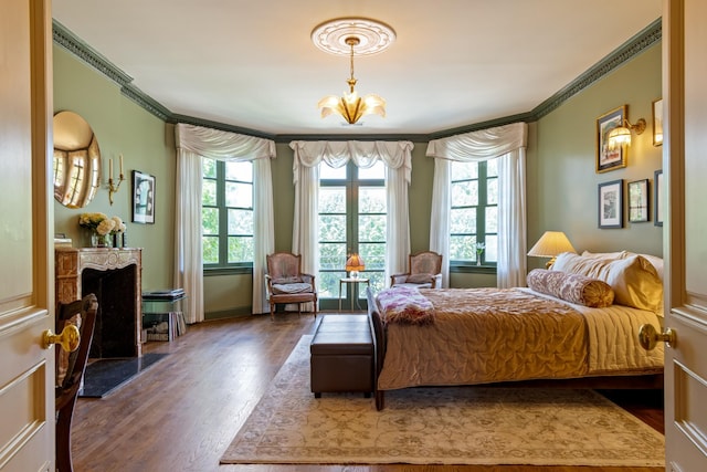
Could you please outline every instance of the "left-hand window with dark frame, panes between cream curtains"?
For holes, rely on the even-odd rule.
[[[253,164],[203,159],[203,265],[253,265]]]

